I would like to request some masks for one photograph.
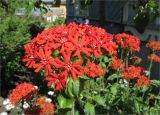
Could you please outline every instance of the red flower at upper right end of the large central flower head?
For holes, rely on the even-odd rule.
[[[105,49],[109,54],[116,54],[117,45],[114,43],[113,36],[105,32],[101,28],[94,28],[88,31],[89,36],[91,37],[90,47],[93,50],[94,56],[96,58],[102,55],[101,48]]]

